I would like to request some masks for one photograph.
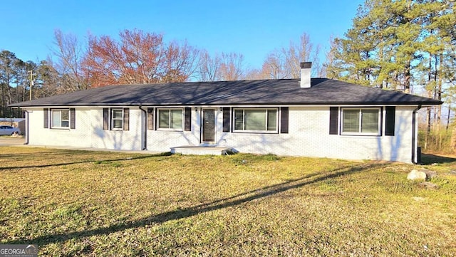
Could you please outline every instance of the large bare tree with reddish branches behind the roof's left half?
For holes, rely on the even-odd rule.
[[[90,37],[84,67],[93,87],[109,84],[182,82],[195,72],[198,50],[187,42],[165,43],[156,33],[125,30],[120,41]]]

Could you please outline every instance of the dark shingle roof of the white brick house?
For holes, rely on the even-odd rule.
[[[439,100],[327,78],[110,85],[11,107],[81,105],[440,105]]]

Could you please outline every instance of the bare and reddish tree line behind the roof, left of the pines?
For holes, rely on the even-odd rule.
[[[248,68],[242,53],[211,55],[187,41],[165,41],[162,34],[126,29],[118,38],[88,35],[83,42],[56,30],[51,53],[38,62],[2,50],[0,117],[21,117],[11,103],[103,85],[299,78],[300,61],[313,61],[314,74],[321,73],[320,48],[306,33],[271,51],[259,69]]]

